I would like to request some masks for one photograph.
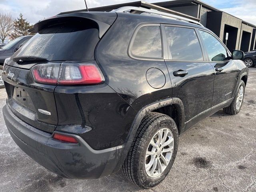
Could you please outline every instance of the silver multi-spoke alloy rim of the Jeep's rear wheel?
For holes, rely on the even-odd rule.
[[[172,132],[162,128],[153,136],[148,145],[145,157],[145,170],[148,176],[154,178],[162,174],[168,166],[174,150]]]

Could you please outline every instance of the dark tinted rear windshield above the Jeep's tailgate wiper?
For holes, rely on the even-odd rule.
[[[36,56],[49,61],[94,60],[98,27],[87,19],[66,18],[40,30],[15,56]]]

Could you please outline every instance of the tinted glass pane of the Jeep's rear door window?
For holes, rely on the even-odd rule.
[[[203,60],[202,49],[194,29],[164,27],[173,60]]]

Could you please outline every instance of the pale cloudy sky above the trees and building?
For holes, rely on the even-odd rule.
[[[134,1],[136,0],[86,0],[89,9]],[[150,3],[163,1],[166,0],[146,0]],[[256,25],[256,0],[202,1]],[[60,12],[83,8],[85,8],[84,0],[0,0],[0,12],[10,13],[14,18],[22,13],[31,24]]]

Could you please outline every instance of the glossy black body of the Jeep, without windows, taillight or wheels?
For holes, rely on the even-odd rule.
[[[148,112],[175,114],[179,134],[183,134],[228,106],[239,81],[247,81],[248,68],[242,61],[209,61],[200,38],[202,61],[169,60],[163,25],[207,30],[202,26],[125,13],[70,12],[57,17],[63,20],[65,16],[84,17],[98,24],[100,40],[94,50],[95,60],[89,62],[99,66],[104,82],[88,86],[37,84],[30,72],[36,62],[11,60],[3,73],[8,94],[4,118],[11,136],[34,160],[61,176],[98,178],[117,172]],[[36,28],[47,26],[47,22],[36,24]],[[141,25],[160,26],[162,59],[129,54],[132,36]],[[72,59],[68,62],[82,62]],[[38,109],[51,112],[51,116]],[[54,132],[74,136],[79,144],[53,140]],[[38,140],[35,134],[42,137]],[[26,142],[38,147],[26,146]]]

